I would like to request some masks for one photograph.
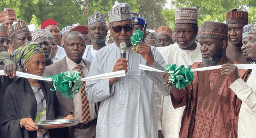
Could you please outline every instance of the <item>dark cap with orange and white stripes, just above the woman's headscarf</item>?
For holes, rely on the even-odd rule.
[[[15,36],[16,34],[25,32],[25,31],[30,32],[28,29],[28,26],[24,20],[19,20],[17,22],[13,22],[11,28],[8,28],[10,39],[12,39],[13,36]]]

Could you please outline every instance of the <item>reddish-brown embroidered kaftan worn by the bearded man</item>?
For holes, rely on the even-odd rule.
[[[228,63],[238,64],[229,59]],[[204,67],[194,63],[192,68]],[[229,88],[228,77],[221,76],[221,69],[194,72],[194,80],[186,87],[187,93],[181,103],[171,95],[174,108],[186,105],[182,115],[180,138],[237,137],[238,114],[242,101]],[[248,70],[239,70],[245,80]]]

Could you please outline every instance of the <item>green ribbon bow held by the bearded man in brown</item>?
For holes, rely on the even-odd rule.
[[[191,72],[191,67],[185,68],[184,65],[166,65],[164,71],[169,71],[168,73],[171,76],[168,83],[172,82],[172,87],[176,87],[179,90],[184,89],[187,84],[193,82],[194,79],[194,74]]]

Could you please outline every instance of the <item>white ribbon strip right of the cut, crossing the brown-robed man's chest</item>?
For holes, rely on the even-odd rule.
[[[251,69],[251,70],[255,70],[256,69],[256,65],[255,64],[235,64],[235,66],[237,66],[238,69]],[[219,66],[210,66],[210,67],[201,67],[201,68],[194,68],[194,69],[191,69],[192,72],[195,72],[195,71],[207,71],[207,70],[215,70],[215,69],[220,69],[222,68],[221,65]],[[155,72],[164,72],[164,71],[161,71],[161,70],[157,70],[153,67],[149,67],[149,66],[146,66],[146,65],[142,65],[140,64],[139,65],[139,69],[140,70],[146,70],[146,71],[155,71]]]

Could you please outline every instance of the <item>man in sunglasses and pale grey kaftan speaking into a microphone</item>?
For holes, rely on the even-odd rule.
[[[115,43],[100,49],[94,57],[88,76],[125,70],[126,76],[86,81],[90,102],[100,101],[96,137],[156,138],[158,116],[154,87],[169,95],[163,73],[139,70],[139,64],[163,70],[166,63],[155,47],[140,43],[138,53],[132,46],[130,5],[118,3],[109,14],[109,30]],[[125,42],[126,58],[120,58],[120,43]]]

